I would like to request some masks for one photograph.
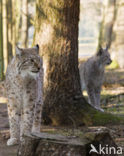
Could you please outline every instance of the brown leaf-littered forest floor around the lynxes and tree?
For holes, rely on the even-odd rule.
[[[87,98],[87,95],[85,93]],[[9,138],[9,123],[7,115],[7,100],[4,82],[0,83],[0,156],[15,156],[17,146],[7,147]],[[101,94],[101,103],[105,112],[124,116],[124,70],[107,70]],[[95,126],[94,126],[95,127]],[[90,131],[94,127],[82,127],[83,131]],[[107,125],[112,138],[119,147],[124,149],[124,125]],[[100,128],[100,126],[95,127]],[[123,152],[124,153],[124,152]],[[124,155],[124,154],[123,154]]]

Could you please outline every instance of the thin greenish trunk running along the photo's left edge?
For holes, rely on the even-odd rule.
[[[0,0],[0,79],[4,79],[3,74],[3,23],[2,23],[2,0]]]

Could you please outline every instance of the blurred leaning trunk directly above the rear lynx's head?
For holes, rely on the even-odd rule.
[[[106,0],[103,6],[103,19],[100,26],[98,47],[106,46],[110,47],[113,40],[113,26],[116,19],[117,5],[116,0]]]

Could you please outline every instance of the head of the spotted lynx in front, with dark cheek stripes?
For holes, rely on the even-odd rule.
[[[39,56],[39,46],[21,49],[16,47],[16,59],[18,60],[18,73],[22,77],[36,77],[42,68],[42,59]]]

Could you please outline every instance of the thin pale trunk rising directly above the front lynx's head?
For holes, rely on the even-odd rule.
[[[28,0],[22,0],[22,28],[21,28],[21,44],[27,47],[28,40]]]

